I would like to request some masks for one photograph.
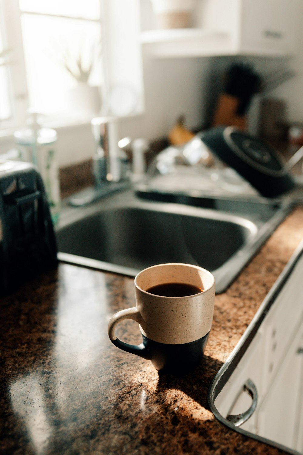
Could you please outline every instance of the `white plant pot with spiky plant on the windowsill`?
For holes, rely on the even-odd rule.
[[[98,114],[101,109],[99,87],[92,87],[79,82],[68,93],[69,107],[73,111],[83,114]]]

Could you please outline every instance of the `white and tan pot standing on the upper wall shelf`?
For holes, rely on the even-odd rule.
[[[196,0],[151,0],[159,28],[190,27]]]

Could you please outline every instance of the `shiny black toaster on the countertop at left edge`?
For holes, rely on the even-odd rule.
[[[0,160],[0,293],[57,264],[57,245],[38,168]]]

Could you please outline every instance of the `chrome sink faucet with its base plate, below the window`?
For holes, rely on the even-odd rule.
[[[89,187],[70,197],[70,205],[77,207],[87,205],[130,186],[127,156],[123,150],[123,144],[120,145],[121,141],[118,141],[118,122],[119,119],[116,117],[92,119],[95,146],[92,169],[94,187]]]

